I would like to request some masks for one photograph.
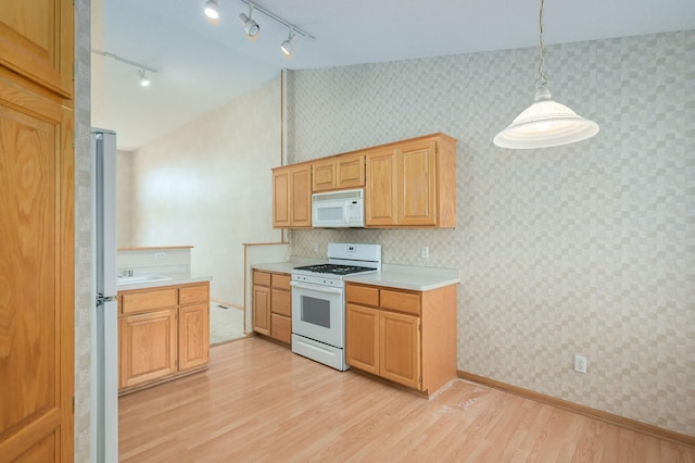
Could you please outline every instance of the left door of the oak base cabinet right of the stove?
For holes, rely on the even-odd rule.
[[[345,310],[345,362],[379,374],[379,310],[348,304]]]

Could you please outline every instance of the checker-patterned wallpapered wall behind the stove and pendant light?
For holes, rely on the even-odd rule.
[[[551,91],[601,133],[496,148],[532,101],[536,60],[520,49],[289,73],[290,163],[458,139],[456,229],[294,230],[291,252],[377,242],[387,263],[459,268],[459,370],[695,435],[695,32],[548,47]]]

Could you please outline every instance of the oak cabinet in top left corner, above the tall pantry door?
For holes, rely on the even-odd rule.
[[[73,95],[72,0],[0,1],[0,65]]]

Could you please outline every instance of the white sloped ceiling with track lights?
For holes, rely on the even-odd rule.
[[[240,0],[219,0],[220,20],[204,0],[93,0],[92,48],[156,68],[138,71],[92,53],[92,125],[135,150],[279,75],[358,63],[538,47],[536,0],[258,0],[316,37],[287,60],[288,30],[261,12],[248,40]],[[547,0],[544,39],[563,43],[695,29],[695,0]],[[551,58],[551,57],[548,57]],[[552,68],[552,60],[547,67]],[[534,76],[519,76],[533,79]]]

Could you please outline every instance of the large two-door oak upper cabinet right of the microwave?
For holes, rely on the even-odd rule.
[[[456,226],[456,140],[421,137],[366,158],[367,227]]]

